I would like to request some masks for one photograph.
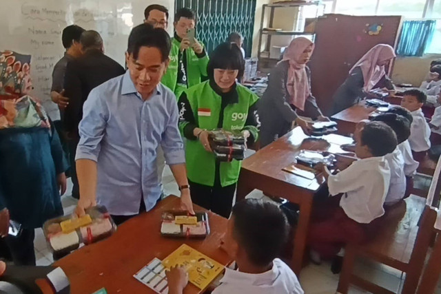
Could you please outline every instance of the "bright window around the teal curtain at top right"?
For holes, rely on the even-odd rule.
[[[326,13],[351,15],[402,15],[407,20],[435,21],[426,53],[441,54],[441,0],[322,0]]]

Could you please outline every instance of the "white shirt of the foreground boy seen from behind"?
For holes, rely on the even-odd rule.
[[[213,294],[303,294],[296,274],[282,260],[276,258],[265,273],[243,273],[225,269],[220,286]]]

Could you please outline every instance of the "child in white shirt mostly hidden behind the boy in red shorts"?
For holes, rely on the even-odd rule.
[[[411,134],[411,124],[409,120],[398,114],[380,114],[376,116],[376,118],[373,118],[372,121],[380,121],[389,125],[397,136],[398,145],[407,140]],[[393,152],[384,156],[391,169],[391,182],[386,200],[384,201],[384,205],[386,206],[400,202],[405,196],[410,195],[410,191],[413,188],[413,182],[407,180],[404,174],[404,157],[398,145]],[[408,187],[410,185],[412,185],[412,187]]]

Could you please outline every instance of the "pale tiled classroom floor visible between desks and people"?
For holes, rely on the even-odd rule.
[[[179,195],[178,186],[174,181],[172,172],[168,167],[165,168],[163,176],[165,195]],[[430,179],[426,177],[418,178],[418,185],[420,187],[428,187]],[[72,182],[68,181],[68,192],[70,194],[72,189]],[[254,190],[249,197],[269,200],[263,195],[261,191]],[[76,206],[76,200],[70,196],[61,197],[63,203],[64,214],[72,213]],[[270,200],[269,200],[270,201]],[[43,232],[41,229],[36,229],[35,235],[35,254],[37,257],[37,265],[48,265],[53,262],[52,253],[48,250],[45,242]],[[307,294],[334,294],[336,293],[339,275],[334,275],[330,270],[330,263],[323,262],[320,266],[309,264],[300,273],[300,284]],[[382,264],[373,264],[365,260],[359,260],[356,266],[356,273],[362,277],[367,278],[373,282],[388,288],[390,291],[397,292],[402,287],[404,282],[404,275],[401,271],[392,269],[389,266]],[[351,288],[350,294],[368,293],[361,291],[358,288]],[[441,293],[441,284],[438,286],[437,293]]]

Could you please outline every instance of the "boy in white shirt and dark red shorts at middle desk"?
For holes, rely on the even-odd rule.
[[[311,260],[336,258],[342,246],[361,243],[380,225],[384,214],[384,200],[389,191],[391,170],[386,154],[397,147],[396,134],[381,122],[366,123],[356,139],[356,156],[348,167],[339,167],[338,174],[330,174],[321,166],[327,180],[328,198],[313,208],[308,243]],[[342,258],[333,263],[334,273],[340,271]]]

